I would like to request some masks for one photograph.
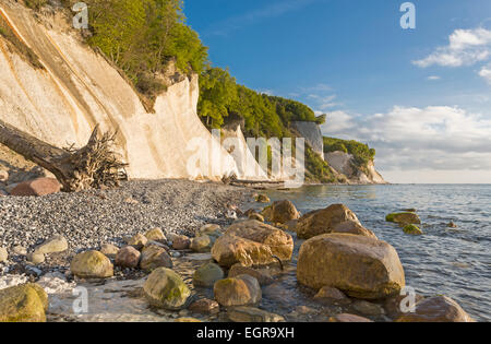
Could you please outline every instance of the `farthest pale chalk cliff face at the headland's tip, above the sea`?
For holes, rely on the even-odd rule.
[[[373,162],[369,162],[366,170],[355,165],[355,157],[345,152],[331,152],[324,154],[324,159],[335,171],[344,175],[351,183],[387,183],[375,170]]]

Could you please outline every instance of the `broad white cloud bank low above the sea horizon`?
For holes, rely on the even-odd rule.
[[[491,169],[491,119],[458,107],[396,106],[368,117],[336,111],[322,130],[369,143],[383,170]]]

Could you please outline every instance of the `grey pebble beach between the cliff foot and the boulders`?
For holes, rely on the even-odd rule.
[[[227,225],[225,214],[250,191],[215,182],[137,180],[113,190],[56,193],[41,198],[0,198],[0,247],[31,252],[53,235],[69,242],[67,256],[122,245],[137,233],[160,227],[193,236],[203,224]]]

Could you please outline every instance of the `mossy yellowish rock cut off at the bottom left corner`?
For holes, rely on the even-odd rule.
[[[0,322],[46,322],[48,295],[37,284],[0,290]]]

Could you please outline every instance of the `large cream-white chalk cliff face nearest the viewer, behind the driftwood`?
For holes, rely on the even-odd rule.
[[[65,19],[56,15],[43,24],[10,1],[0,1],[0,14],[44,66],[33,68],[0,37],[0,119],[57,146],[86,144],[97,123],[118,131],[131,178],[242,177],[199,119],[196,75],[169,86],[148,114],[130,84],[80,41]]]

